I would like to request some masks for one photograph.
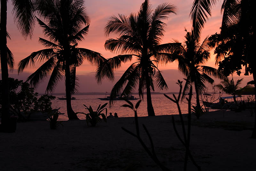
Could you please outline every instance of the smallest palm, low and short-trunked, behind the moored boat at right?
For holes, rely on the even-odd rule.
[[[227,94],[232,94],[234,102],[236,102],[236,95],[239,94],[242,89],[239,87],[241,82],[243,81],[243,78],[238,79],[237,81],[234,81],[234,79],[224,79],[224,81],[221,81],[220,84],[215,85],[218,89],[221,91],[227,93]]]

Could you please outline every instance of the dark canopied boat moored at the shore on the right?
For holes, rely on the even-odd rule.
[[[236,97],[241,97],[241,96],[236,96]],[[237,104],[234,101],[228,102],[225,99],[233,99],[233,96],[228,96],[228,97],[220,97],[219,98],[219,102],[218,103],[210,103],[210,102],[206,102],[203,101],[203,104],[206,107],[212,108],[212,109],[237,109],[237,107],[239,107],[239,103],[241,101],[237,100]],[[249,109],[249,108],[254,108],[255,107],[255,102],[250,101],[250,102],[244,102],[245,108]]]

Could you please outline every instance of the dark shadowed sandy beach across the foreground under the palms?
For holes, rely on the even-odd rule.
[[[174,117],[181,133],[179,116]],[[160,170],[139,141],[121,129],[135,132],[133,117],[109,118],[96,127],[85,120],[62,123],[57,130],[46,121],[18,123],[15,133],[0,133],[0,170]],[[172,115],[139,117],[139,123],[148,128],[164,166],[183,170],[185,148],[173,130]],[[249,111],[193,117],[190,149],[202,170],[256,170],[253,123]],[[150,146],[142,126],[140,132]],[[188,170],[196,170],[190,160]]]

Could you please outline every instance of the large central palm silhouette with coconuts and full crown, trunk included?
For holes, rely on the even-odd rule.
[[[149,1],[145,0],[137,14],[131,13],[129,16],[119,14],[119,18],[112,16],[105,26],[107,36],[110,33],[119,35],[119,38],[108,39],[105,48],[122,55],[103,63],[97,70],[96,78],[100,82],[105,76],[109,77],[113,74],[104,72],[107,65],[117,69],[121,66],[121,62],[128,62],[132,57],[136,57],[136,62],[131,64],[114,85],[110,97],[115,97],[122,90],[121,95],[129,95],[138,86],[139,96],[143,99],[143,92],[146,89],[149,116],[155,115],[150,93],[150,90],[155,90],[154,81],[160,89],[168,88],[157,66],[158,63],[166,64],[171,61],[171,54],[168,53],[170,44],[160,44],[160,41],[166,26],[161,20],[167,19],[172,13],[176,14],[176,7],[172,4],[160,4],[153,11]],[[113,100],[110,102],[113,103]]]

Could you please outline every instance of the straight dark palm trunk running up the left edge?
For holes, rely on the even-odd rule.
[[[7,0],[1,0],[1,19],[0,19],[0,53],[1,53],[1,71],[2,71],[2,131],[8,132],[8,123],[10,121],[9,113],[9,86],[8,86],[8,64],[6,50],[6,21],[7,21]]]

